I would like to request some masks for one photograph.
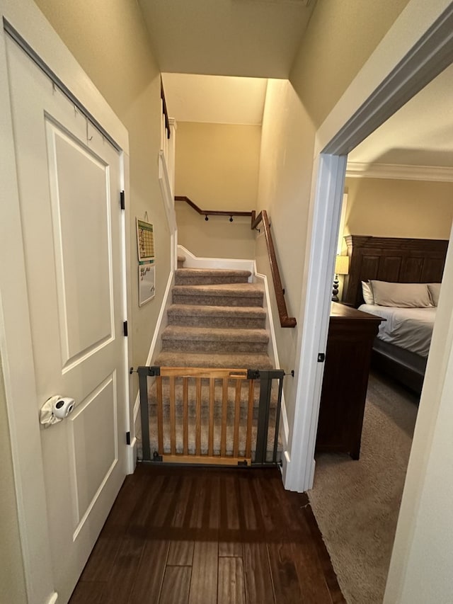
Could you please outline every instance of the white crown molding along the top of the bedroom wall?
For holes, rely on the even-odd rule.
[[[364,164],[348,161],[347,178],[395,178],[405,181],[453,182],[453,168],[443,166],[406,166],[403,164]]]

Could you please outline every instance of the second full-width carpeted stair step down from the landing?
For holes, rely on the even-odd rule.
[[[263,306],[263,288],[257,283],[174,285],[173,304],[203,306]]]

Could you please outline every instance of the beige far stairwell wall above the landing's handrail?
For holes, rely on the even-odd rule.
[[[176,195],[203,210],[255,210],[260,137],[260,126],[178,122]]]

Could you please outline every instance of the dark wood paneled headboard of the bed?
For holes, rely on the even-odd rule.
[[[363,304],[361,281],[442,281],[448,246],[446,240],[348,235],[345,241],[350,266],[349,275],[345,277],[343,302],[353,304],[356,308]]]

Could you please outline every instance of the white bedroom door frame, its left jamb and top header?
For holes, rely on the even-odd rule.
[[[308,283],[297,321],[294,431],[285,487],[313,486],[314,447],[347,154],[453,61],[453,2],[411,0],[316,133]],[[429,367],[428,367],[429,370]]]

